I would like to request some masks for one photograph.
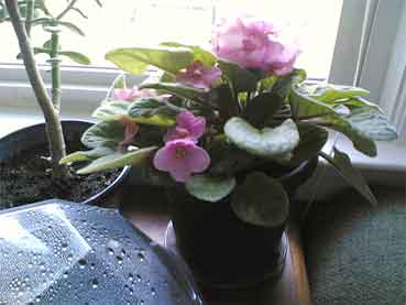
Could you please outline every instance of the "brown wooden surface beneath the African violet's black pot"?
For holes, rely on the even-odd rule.
[[[146,190],[147,194],[125,194],[123,215],[129,218],[134,226],[143,230],[154,241],[164,243],[165,230],[171,220],[162,200],[162,194],[156,190]],[[139,198],[149,198],[149,203]],[[286,265],[282,277],[276,283],[264,283],[254,288],[234,292],[224,292],[220,295],[216,292],[217,302],[209,302],[209,305],[295,305],[311,304],[309,286],[306,275],[306,268],[297,227],[289,225],[287,228],[288,251]],[[209,292],[205,292],[210,295]]]

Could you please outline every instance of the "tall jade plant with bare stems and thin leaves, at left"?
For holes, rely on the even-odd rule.
[[[65,139],[59,119],[61,109],[61,57],[88,65],[90,61],[81,53],[64,51],[61,48],[59,36],[63,30],[73,31],[79,35],[84,32],[66,17],[78,13],[83,18],[86,14],[77,7],[78,0],[67,1],[66,7],[57,14],[51,12],[45,0],[0,0],[0,23],[10,21],[19,41],[19,58],[23,59],[29,80],[34,90],[36,101],[43,112],[46,123],[46,135],[50,146],[51,167],[54,177],[68,175],[66,165],[59,161],[66,155]],[[96,0],[101,6],[99,0]],[[41,28],[48,40],[41,46],[32,45],[31,32],[33,28]],[[52,88],[48,94],[44,79],[35,62],[35,54],[46,54],[51,65]]]

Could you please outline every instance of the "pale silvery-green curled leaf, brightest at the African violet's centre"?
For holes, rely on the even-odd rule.
[[[224,133],[238,148],[268,159],[289,159],[299,143],[299,132],[290,119],[276,128],[259,130],[242,118],[231,118]]]

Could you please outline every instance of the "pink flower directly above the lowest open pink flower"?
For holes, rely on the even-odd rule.
[[[176,139],[190,139],[197,142],[205,133],[206,119],[204,117],[195,117],[190,111],[182,111],[176,116],[176,127],[169,129],[164,137],[164,141],[168,142]]]

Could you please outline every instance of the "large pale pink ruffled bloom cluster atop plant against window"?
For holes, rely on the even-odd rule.
[[[215,29],[211,43],[217,56],[270,74],[289,73],[298,55],[296,46],[282,43],[272,23],[241,18]]]

